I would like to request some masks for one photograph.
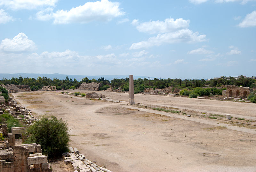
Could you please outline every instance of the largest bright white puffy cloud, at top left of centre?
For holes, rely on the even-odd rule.
[[[88,23],[91,21],[110,21],[112,18],[124,15],[119,8],[118,2],[101,0],[87,2],[84,5],[71,8],[70,10],[58,10],[49,14],[43,13],[44,20],[54,19],[54,24]]]

